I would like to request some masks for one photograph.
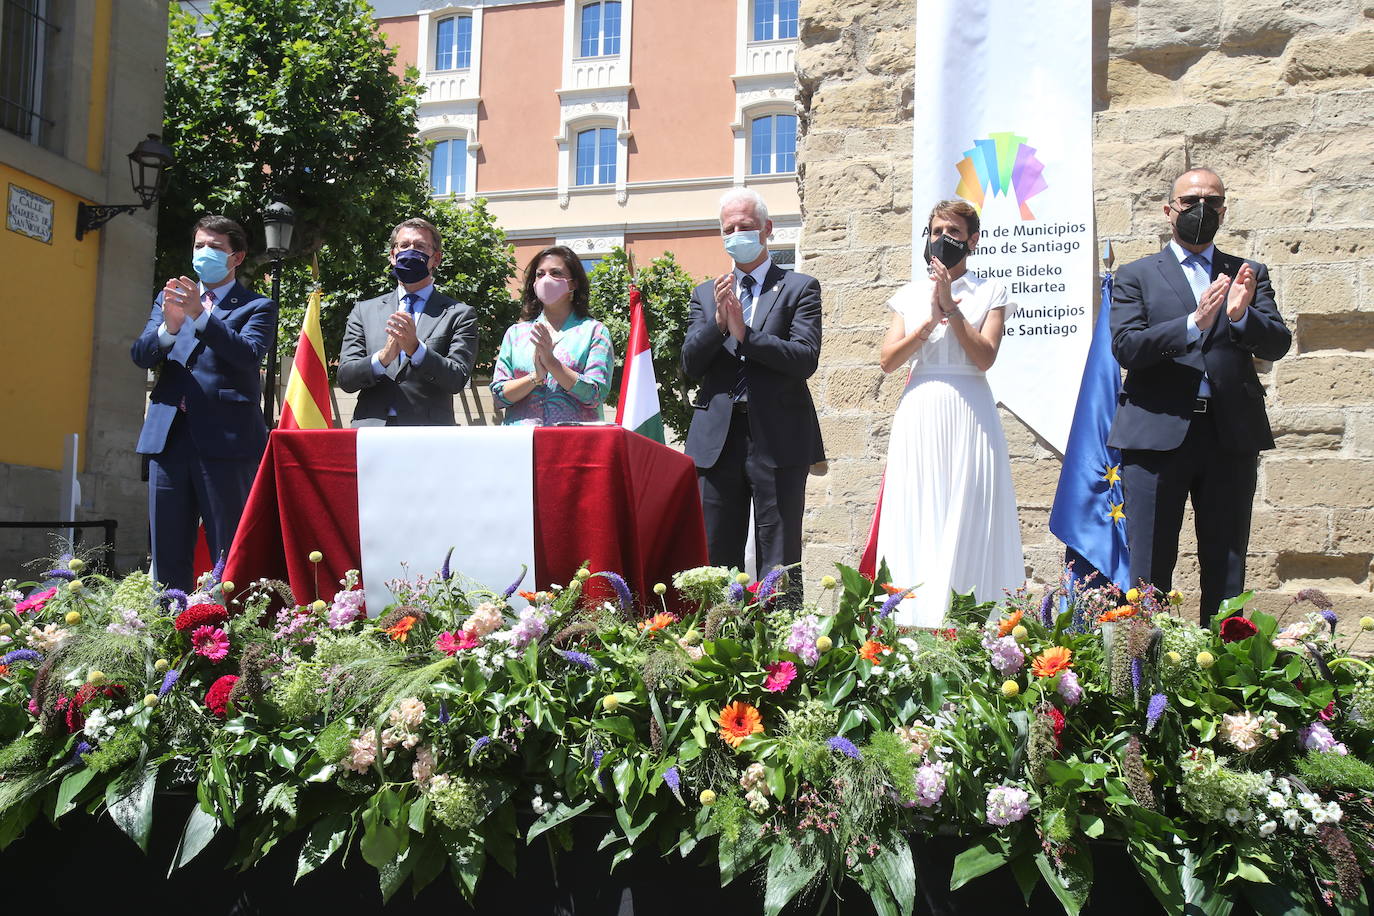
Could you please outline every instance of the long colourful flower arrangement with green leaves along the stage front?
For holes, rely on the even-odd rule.
[[[893,619],[910,588],[846,567],[804,607],[785,570],[753,589],[687,570],[679,617],[666,586],[640,606],[585,569],[523,604],[523,575],[441,574],[365,608],[356,573],[295,604],[278,582],[209,574],[188,596],[58,566],[0,589],[4,836],[107,808],[146,843],[146,787],[184,786],[187,836],[262,838],[232,865],[356,851],[389,898],[445,872],[471,895],[583,818],[607,862],[708,851],[725,883],[760,875],[768,913],[842,880],[908,913],[908,840],[934,832],[967,842],[951,887],[1009,868],[1066,912],[1095,839],[1167,912],[1272,887],[1353,911],[1374,873],[1374,669],[1319,592],[1294,619],[1241,596],[1204,629],[1182,599],[1065,581],[956,599],[932,632]]]

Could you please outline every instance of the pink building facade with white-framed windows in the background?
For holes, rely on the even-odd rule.
[[[801,243],[797,0],[374,0],[425,87],[430,187],[485,198],[517,264],[567,244],[588,268],[616,246],[720,273],[717,202],[752,187],[775,261]]]

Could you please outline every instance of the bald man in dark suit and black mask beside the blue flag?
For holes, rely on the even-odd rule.
[[[1215,172],[1180,174],[1164,213],[1169,244],[1116,276],[1127,376],[1107,445],[1121,449],[1132,582],[1169,591],[1191,496],[1206,622],[1245,588],[1259,453],[1274,448],[1254,360],[1278,360],[1292,335],[1265,266],[1212,244],[1226,216]]]

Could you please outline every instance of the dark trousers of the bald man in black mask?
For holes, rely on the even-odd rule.
[[[1226,449],[1210,413],[1193,415],[1176,449],[1124,449],[1121,486],[1132,585],[1143,580],[1165,592],[1173,586],[1183,505],[1191,497],[1202,622],[1212,619],[1223,600],[1245,591],[1257,467],[1254,452]]]

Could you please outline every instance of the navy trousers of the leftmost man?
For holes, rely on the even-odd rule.
[[[166,446],[148,461],[148,525],[153,538],[153,577],[169,588],[190,592],[199,522],[212,560],[228,555],[257,474],[253,459],[206,459],[196,453],[191,431],[180,416],[168,430]]]

